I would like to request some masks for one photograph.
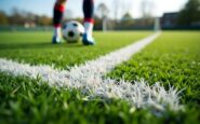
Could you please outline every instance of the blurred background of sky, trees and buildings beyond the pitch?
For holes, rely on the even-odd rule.
[[[95,30],[200,29],[200,0],[94,0]],[[0,31],[51,30],[55,0],[1,0]],[[82,22],[82,0],[68,0],[64,23]]]

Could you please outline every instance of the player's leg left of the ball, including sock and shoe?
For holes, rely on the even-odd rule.
[[[62,28],[61,23],[65,11],[65,3],[67,0],[56,0],[53,10],[53,25],[54,25],[54,36],[52,43],[62,42]]]

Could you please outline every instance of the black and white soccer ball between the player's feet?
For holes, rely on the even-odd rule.
[[[77,43],[84,33],[84,27],[77,20],[70,20],[63,26],[63,38],[67,43]]]

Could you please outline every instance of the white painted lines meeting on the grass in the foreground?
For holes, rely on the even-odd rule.
[[[86,61],[79,67],[72,67],[70,71],[55,70],[50,66],[18,64],[4,58],[0,58],[0,71],[16,77],[27,75],[31,79],[40,77],[50,86],[80,89],[89,99],[95,97],[118,98],[129,101],[136,108],[165,110],[169,105],[171,110],[179,110],[182,109],[178,104],[179,93],[171,86],[169,91],[165,91],[159,83],[152,86],[149,86],[145,81],[131,84],[131,82],[123,80],[118,82],[104,77],[117,65],[130,59],[132,55],[152,42],[159,35],[160,32],[157,32],[106,56]]]

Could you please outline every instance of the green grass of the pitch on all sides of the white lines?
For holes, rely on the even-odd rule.
[[[52,45],[50,32],[0,32],[0,58],[66,69],[123,47],[152,32],[95,32],[97,44]],[[165,31],[107,77],[144,79],[183,89],[184,111],[155,114],[120,99],[82,100],[79,91],[50,87],[28,77],[0,71],[0,123],[200,123],[200,32]],[[39,83],[40,82],[40,83]]]

